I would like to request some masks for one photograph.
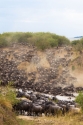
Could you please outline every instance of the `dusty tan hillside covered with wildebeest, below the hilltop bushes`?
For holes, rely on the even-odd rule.
[[[82,56],[70,46],[39,51],[12,44],[0,49],[1,84],[14,82],[16,87],[52,94],[71,84],[82,86]]]

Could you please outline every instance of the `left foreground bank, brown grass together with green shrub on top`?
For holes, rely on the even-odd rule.
[[[15,102],[14,91],[8,86],[0,87],[0,125],[20,125],[12,111],[12,104]]]

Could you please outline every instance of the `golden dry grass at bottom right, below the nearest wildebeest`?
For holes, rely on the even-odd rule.
[[[83,125],[83,119],[76,116],[42,117],[37,120],[40,125]]]

